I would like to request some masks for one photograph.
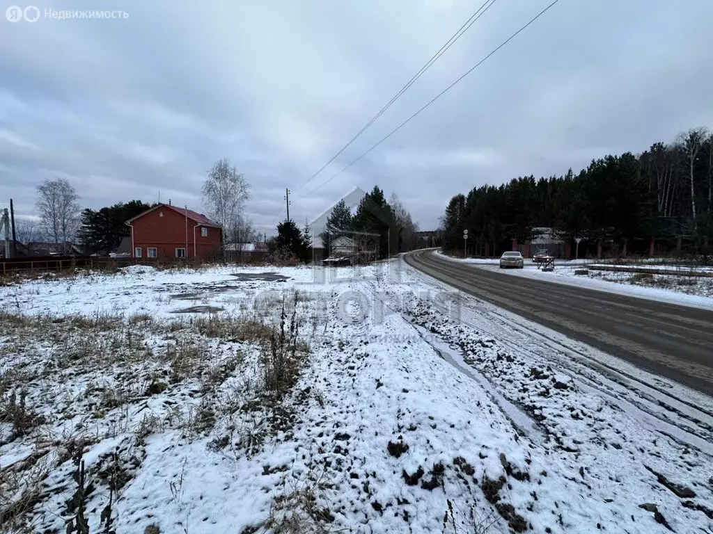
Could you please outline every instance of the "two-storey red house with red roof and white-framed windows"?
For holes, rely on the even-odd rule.
[[[158,204],[126,221],[131,227],[132,258],[220,256],[222,227],[190,209]]]

